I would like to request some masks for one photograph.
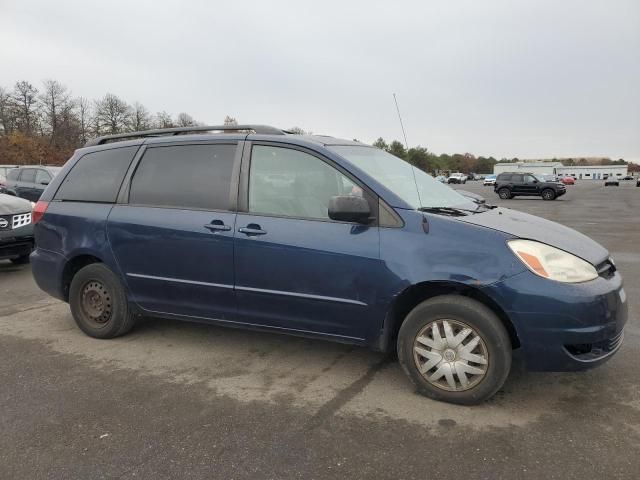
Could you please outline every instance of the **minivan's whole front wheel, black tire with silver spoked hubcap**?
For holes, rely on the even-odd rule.
[[[444,332],[447,328],[445,323],[451,327],[451,335],[441,333],[441,341],[445,343],[448,338],[457,340],[463,329],[471,332],[457,347],[452,346],[454,343],[443,346],[433,340],[432,329],[437,325],[438,331]],[[427,338],[432,346],[438,348],[427,346],[418,338],[423,341]],[[470,347],[472,342],[476,343]],[[502,387],[511,369],[511,342],[498,317],[485,305],[459,295],[434,297],[416,306],[400,327],[397,346],[400,365],[417,392],[443,402],[460,405],[482,403]],[[416,347],[428,355],[423,356],[416,351]],[[471,349],[464,351],[464,347]],[[476,359],[484,359],[485,363]],[[434,365],[429,368],[428,363]],[[428,368],[424,375],[419,366]],[[442,373],[450,368],[454,368],[455,373],[452,370],[448,370],[449,375]],[[464,370],[460,372],[460,368]],[[438,373],[440,377],[433,378]],[[431,380],[428,376],[432,377]],[[466,386],[464,381],[467,382]]]

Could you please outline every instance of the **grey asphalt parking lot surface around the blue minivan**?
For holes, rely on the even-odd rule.
[[[455,188],[611,251],[630,309],[618,355],[577,374],[516,366],[487,404],[453,406],[340,344],[158,320],[91,339],[28,265],[0,261],[0,478],[640,478],[640,188]]]

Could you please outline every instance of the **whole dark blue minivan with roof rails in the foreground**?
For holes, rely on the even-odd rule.
[[[383,150],[268,126],[93,140],[33,221],[38,285],[92,337],[148,316],[363,345],[459,404],[500,389],[515,354],[538,371],[605,362],[627,319],[588,237]]]

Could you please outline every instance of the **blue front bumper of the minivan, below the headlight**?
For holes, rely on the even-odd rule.
[[[487,293],[513,322],[529,370],[586,370],[622,345],[628,305],[618,272],[565,284],[527,271],[487,287]]]

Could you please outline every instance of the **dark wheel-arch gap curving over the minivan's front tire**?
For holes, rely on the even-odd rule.
[[[396,296],[385,317],[379,349],[394,351],[398,332],[409,312],[425,300],[440,295],[460,295],[482,303],[500,319],[509,335],[512,349],[520,347],[518,332],[505,310],[480,288],[451,281],[427,281],[411,285]]]

